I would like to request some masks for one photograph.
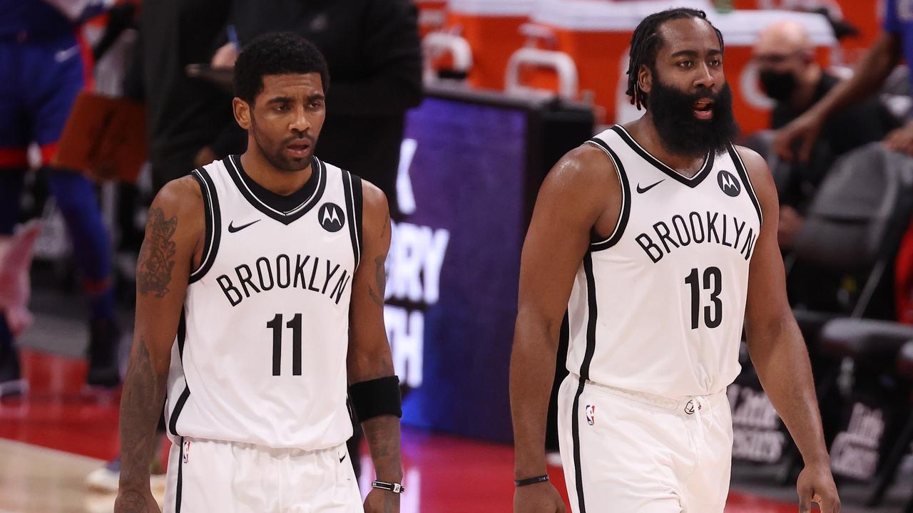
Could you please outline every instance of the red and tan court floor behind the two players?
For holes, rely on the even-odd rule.
[[[40,466],[30,470],[31,474],[23,478],[16,476],[17,472],[26,475],[22,464],[4,465],[0,457],[0,513],[99,510],[66,504],[72,502],[70,499],[62,501],[60,508],[45,506],[36,509],[30,507],[30,503],[37,504],[47,499],[45,496],[51,493],[48,488],[56,486],[76,488],[68,492],[68,497],[89,495],[81,489],[82,479],[86,469],[100,464],[100,461],[73,456],[71,459],[77,460],[79,465],[65,465],[63,460],[67,459],[67,455],[64,453],[98,460],[108,460],[117,455],[120,393],[85,390],[82,383],[86,365],[83,361],[40,351],[23,351],[23,360],[31,391],[24,398],[6,398],[0,403],[0,438],[26,444],[7,446],[15,446],[20,459],[25,457],[26,460],[34,459],[42,463],[36,464]],[[509,445],[432,434],[408,427],[404,428],[403,438],[404,484],[408,493],[403,498],[402,513],[510,511],[513,450]],[[41,449],[27,452],[33,449],[32,446],[55,449],[60,453]],[[25,453],[22,452],[23,447],[26,447]],[[57,461],[60,461],[59,465],[55,463]],[[72,470],[61,470],[64,467]],[[563,489],[561,469],[551,470],[555,485]],[[42,472],[52,471],[64,472],[65,475],[55,477],[54,484],[46,488],[29,486],[28,479],[40,479]],[[7,483],[6,488],[4,482]],[[9,499],[5,502],[3,496],[12,497],[11,488],[17,490],[17,501]],[[797,509],[791,504],[733,492],[729,495],[726,511],[792,513]]]

